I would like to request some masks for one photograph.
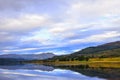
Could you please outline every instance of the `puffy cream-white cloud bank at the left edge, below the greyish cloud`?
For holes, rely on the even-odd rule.
[[[1,31],[28,31],[47,24],[48,17],[36,14],[24,14],[17,18],[3,18],[0,20]]]

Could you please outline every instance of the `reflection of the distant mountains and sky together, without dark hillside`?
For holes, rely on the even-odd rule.
[[[0,66],[0,80],[104,80],[95,76],[83,75],[78,73],[79,71],[72,71],[73,69],[65,69],[69,68],[54,69],[53,67],[33,64]]]

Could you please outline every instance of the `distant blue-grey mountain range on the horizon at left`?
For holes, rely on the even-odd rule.
[[[24,59],[24,60],[42,60],[52,58],[55,55],[53,53],[42,53],[42,54],[3,54],[0,58],[13,58],[13,59]]]

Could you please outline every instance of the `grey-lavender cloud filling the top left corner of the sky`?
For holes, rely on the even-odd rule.
[[[28,0],[0,0],[0,10],[21,11],[22,9],[25,9],[28,6],[31,7],[34,4],[39,4],[42,2],[43,1],[41,0],[29,0],[29,1]]]

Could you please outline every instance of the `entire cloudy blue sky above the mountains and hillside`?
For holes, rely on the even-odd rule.
[[[0,54],[70,54],[120,40],[120,0],[0,0]]]

